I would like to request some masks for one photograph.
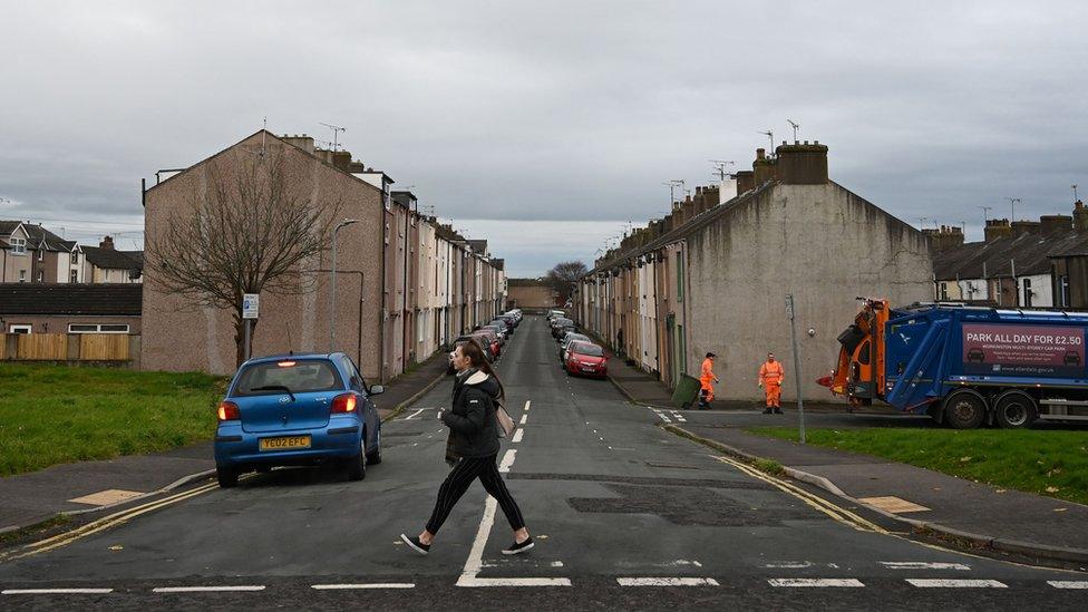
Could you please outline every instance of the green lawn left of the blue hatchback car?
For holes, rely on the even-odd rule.
[[[225,387],[202,373],[0,363],[0,476],[211,439]]]

